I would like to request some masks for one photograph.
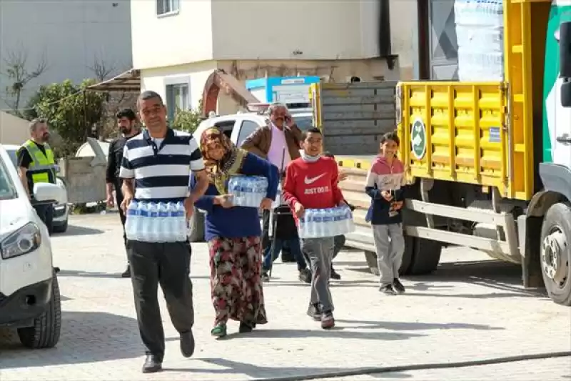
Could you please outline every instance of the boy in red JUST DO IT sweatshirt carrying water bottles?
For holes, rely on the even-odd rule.
[[[305,133],[301,157],[288,164],[285,171],[283,197],[293,211],[295,222],[305,209],[325,209],[346,205],[337,185],[338,167],[335,160],[321,156],[323,136],[319,129]],[[333,301],[329,291],[333,237],[302,239],[302,250],[311,262],[311,298],[308,315],[321,321],[323,329],[335,326]]]

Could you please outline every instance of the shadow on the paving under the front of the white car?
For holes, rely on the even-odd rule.
[[[137,321],[131,317],[62,312],[61,319],[59,343],[49,350],[29,350],[14,330],[0,331],[0,370],[131,359],[145,353]]]

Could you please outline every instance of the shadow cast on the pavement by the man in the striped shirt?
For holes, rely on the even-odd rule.
[[[349,371],[359,371],[365,370],[367,368],[357,367],[357,368],[350,368],[350,367],[342,367],[342,368],[334,368],[334,367],[307,367],[303,364],[300,364],[298,367],[261,367],[258,365],[247,364],[246,362],[238,362],[232,360],[224,360],[224,359],[212,359],[212,358],[204,358],[204,359],[196,359],[203,362],[207,362],[211,365],[216,365],[217,367],[224,367],[226,369],[200,369],[200,368],[163,368],[165,371],[171,372],[192,372],[192,373],[209,373],[209,374],[237,374],[237,375],[246,375],[249,378],[254,378],[258,381],[271,381],[271,380],[284,380],[291,379],[295,380],[296,377],[302,377],[302,380],[311,380],[317,379],[322,377],[335,377],[335,373],[339,372],[349,372]],[[313,377],[311,377],[313,376]],[[384,376],[384,375],[383,375]],[[386,375],[387,377],[381,377],[381,375],[374,375],[374,377],[378,378],[410,378],[412,376],[406,375],[403,373],[393,373],[390,375]],[[222,378],[221,378],[222,379]],[[333,380],[333,378],[332,378]],[[345,378],[343,380],[346,380]]]

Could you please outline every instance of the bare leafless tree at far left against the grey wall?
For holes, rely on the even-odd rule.
[[[20,102],[22,93],[26,85],[32,79],[36,79],[47,69],[46,55],[42,54],[34,69],[29,69],[28,65],[28,52],[24,48],[13,51],[8,51],[6,58],[3,60],[5,72],[9,79],[9,85],[6,86],[6,94],[9,99],[4,99],[16,115],[20,115]]]

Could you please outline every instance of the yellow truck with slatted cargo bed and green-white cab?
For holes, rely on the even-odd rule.
[[[432,272],[443,244],[473,247],[521,264],[525,287],[545,286],[554,302],[569,306],[571,0],[504,0],[503,17],[503,81],[404,81],[394,87],[394,123],[410,183],[401,272]],[[363,218],[370,202],[366,155],[390,128],[363,139],[360,152],[328,146],[328,139],[340,140],[333,137],[341,113],[332,109],[358,102],[353,85],[318,84],[312,99],[325,149],[350,172],[343,188],[358,206],[358,230],[348,245],[365,250],[375,267]]]

